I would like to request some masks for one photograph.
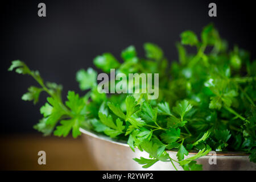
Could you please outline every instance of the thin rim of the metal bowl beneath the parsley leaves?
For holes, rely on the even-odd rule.
[[[121,145],[121,146],[125,146],[125,147],[129,147],[129,144],[127,144],[127,142],[125,140],[117,140],[117,139],[114,139],[114,138],[110,138],[106,135],[103,135],[103,134],[100,134],[100,133],[96,133],[92,130],[88,130],[88,129],[84,129],[84,128],[81,128],[80,127],[80,132],[82,134],[86,134],[86,135],[89,135],[90,137],[93,137],[93,138],[97,138],[97,139],[100,139],[100,140],[104,140],[106,142],[110,142],[110,143],[114,143],[114,144],[118,144],[118,145]],[[177,153],[177,151],[173,151],[173,150],[166,150],[167,152],[171,152],[171,153]],[[189,151],[190,155],[195,155],[197,154],[196,151]],[[207,154],[209,156],[212,156],[210,154]],[[249,154],[246,154],[246,152],[230,152],[230,151],[225,151],[225,152],[216,152],[216,155],[217,156],[249,156]]]

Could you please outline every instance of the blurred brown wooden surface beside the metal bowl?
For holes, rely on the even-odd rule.
[[[81,138],[41,135],[0,136],[1,170],[97,170]],[[38,151],[46,152],[46,165],[38,164]]]

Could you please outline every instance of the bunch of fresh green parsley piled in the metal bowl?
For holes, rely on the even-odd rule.
[[[188,53],[184,46],[195,47]],[[234,47],[228,51],[213,24],[203,28],[201,39],[192,31],[181,34],[177,43],[179,62],[168,66],[162,49],[144,44],[146,58],[137,56],[135,47],[122,51],[123,63],[111,53],[97,56],[97,68],[109,73],[159,73],[159,98],[148,100],[148,93],[111,94],[97,91],[97,72],[81,69],[76,79],[82,90],[80,97],[68,92],[61,99],[61,85],[44,82],[38,71],[31,71],[22,61],[13,61],[9,71],[30,75],[39,83],[31,86],[22,100],[38,102],[41,92],[49,97],[40,113],[43,118],[34,128],[44,135],[66,137],[71,131],[79,136],[80,127],[126,139],[134,151],[146,151],[149,158],[134,159],[143,168],[160,161],[179,164],[185,170],[200,170],[195,159],[209,151],[244,151],[256,162],[256,61],[249,53]],[[177,150],[177,160],[166,150]],[[189,150],[198,153],[184,159]],[[176,167],[175,167],[176,169]]]

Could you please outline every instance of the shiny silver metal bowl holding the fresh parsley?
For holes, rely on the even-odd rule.
[[[99,170],[109,171],[133,171],[133,170],[175,170],[170,162],[157,162],[149,168],[142,168],[133,158],[148,158],[147,152],[141,152],[135,148],[133,152],[124,141],[114,140],[105,135],[96,134],[92,131],[80,129],[85,147],[89,149],[89,157],[93,159]],[[176,151],[167,151],[170,157],[177,160]],[[185,158],[195,155],[189,152]],[[216,164],[209,164],[209,160],[216,157]],[[218,152],[216,156],[206,155],[196,160],[198,164],[203,164],[203,170],[256,170],[256,164],[250,162],[249,155],[238,152]],[[178,170],[183,170],[176,163]]]

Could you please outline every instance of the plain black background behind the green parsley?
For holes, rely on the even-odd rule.
[[[47,17],[38,16],[38,3],[46,3]],[[210,2],[217,4],[217,17],[208,16]],[[175,42],[184,30],[197,34],[210,22],[222,38],[251,52],[255,59],[255,11],[253,1],[2,1],[1,2],[1,133],[35,132],[45,102],[20,99],[31,77],[7,72],[11,61],[25,61],[39,69],[46,81],[79,91],[75,74],[93,67],[92,60],[112,52],[120,60],[127,46],[152,42],[163,48],[171,61],[177,59]],[[95,68],[95,67],[93,67]]]

